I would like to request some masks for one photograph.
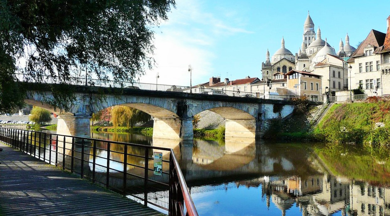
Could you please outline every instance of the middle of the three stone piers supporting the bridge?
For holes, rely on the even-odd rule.
[[[153,138],[192,140],[192,119],[193,118],[154,118]]]

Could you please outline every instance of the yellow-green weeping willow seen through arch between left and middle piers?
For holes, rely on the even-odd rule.
[[[138,109],[125,106],[114,106],[111,109],[112,125],[133,127],[139,122],[147,122],[151,119],[151,116]]]

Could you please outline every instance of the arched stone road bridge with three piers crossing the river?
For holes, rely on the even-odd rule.
[[[57,133],[81,137],[90,135],[92,113],[114,105],[151,115],[154,138],[180,140],[193,139],[193,116],[205,110],[225,118],[226,137],[255,138],[261,136],[267,119],[284,118],[294,109],[291,101],[284,100],[138,89],[121,89],[118,93],[112,88],[78,86],[76,100],[64,112],[45,103],[53,98],[47,85],[39,84],[39,88],[28,91],[25,102],[58,114]]]

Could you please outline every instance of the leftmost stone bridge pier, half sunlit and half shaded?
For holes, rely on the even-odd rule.
[[[77,137],[90,137],[89,115],[58,116],[57,133]]]

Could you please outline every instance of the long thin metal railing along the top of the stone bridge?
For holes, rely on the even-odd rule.
[[[194,94],[204,95],[222,95],[230,97],[248,97],[248,98],[265,98],[273,100],[293,100],[300,96],[296,95],[264,95],[262,93],[252,93],[246,91],[230,91],[224,89],[210,89],[189,86],[176,86],[176,85],[163,85],[163,84],[152,84],[152,83],[131,83],[127,81],[113,81],[103,79],[85,79],[79,77],[57,77],[57,76],[32,76],[29,74],[16,74],[19,81],[27,83],[44,83],[44,84],[60,84],[65,83],[76,86],[98,86],[105,88],[129,88],[138,90],[149,90],[149,91],[174,91],[174,92],[185,92]],[[311,95],[307,96],[308,100],[311,101],[322,101],[322,95]]]

